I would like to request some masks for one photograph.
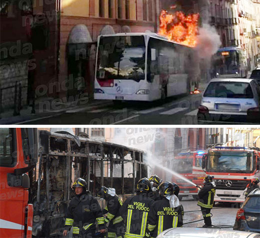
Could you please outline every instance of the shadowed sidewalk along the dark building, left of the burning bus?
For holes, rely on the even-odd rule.
[[[13,116],[13,109],[3,111],[2,113],[0,113],[0,124],[7,125],[31,122],[31,124],[33,125],[33,122],[37,119],[45,119],[58,116],[62,113],[93,110],[112,105],[112,101],[109,100],[91,100],[82,105],[80,105],[79,103],[76,105],[76,103],[74,102],[68,102],[58,104],[55,109],[46,109],[46,106],[51,105],[51,102],[53,102],[54,100],[55,99],[53,98],[37,99],[35,101],[35,113],[31,113],[32,107],[30,106],[23,106],[23,108],[20,110],[20,115],[17,116]]]

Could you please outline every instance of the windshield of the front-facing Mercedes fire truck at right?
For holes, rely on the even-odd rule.
[[[252,158],[252,153],[246,151],[211,151],[207,171],[250,172],[253,170]]]

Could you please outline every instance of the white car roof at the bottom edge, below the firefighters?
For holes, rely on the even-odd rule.
[[[259,238],[257,233],[246,231],[234,231],[221,228],[196,228],[196,227],[175,227],[162,231],[157,238],[214,238],[214,237],[239,237]]]

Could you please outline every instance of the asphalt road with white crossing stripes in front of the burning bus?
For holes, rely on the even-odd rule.
[[[167,98],[164,103],[132,102],[114,105],[104,101],[98,107],[68,109],[47,118],[38,118],[20,124],[49,125],[197,125],[197,108],[201,94]],[[204,122],[203,125],[249,124]],[[256,123],[255,123],[256,124]]]

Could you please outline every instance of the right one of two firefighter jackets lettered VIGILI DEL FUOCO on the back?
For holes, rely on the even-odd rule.
[[[180,227],[183,224],[183,207],[170,207],[170,202],[166,197],[155,201],[148,215],[148,226],[146,236],[149,234],[156,237],[163,230],[171,227]]]

